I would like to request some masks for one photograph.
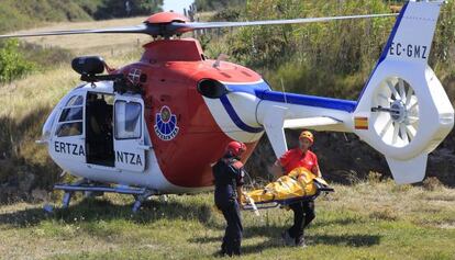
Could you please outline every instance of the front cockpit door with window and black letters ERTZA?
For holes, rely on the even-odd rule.
[[[86,140],[84,133],[85,97],[71,97],[60,110],[52,149],[57,158],[75,162],[86,162]]]

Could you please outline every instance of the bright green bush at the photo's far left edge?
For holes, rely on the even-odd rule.
[[[27,61],[19,52],[19,41],[9,39],[0,48],[0,82],[23,77],[35,69],[33,63]]]

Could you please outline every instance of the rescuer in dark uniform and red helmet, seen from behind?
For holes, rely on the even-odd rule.
[[[231,142],[223,158],[212,167],[215,185],[214,202],[228,223],[221,245],[221,256],[241,255],[243,226],[240,210],[245,170],[240,157],[245,150],[245,144]]]

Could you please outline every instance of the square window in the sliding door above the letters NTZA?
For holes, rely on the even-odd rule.
[[[115,138],[141,138],[141,115],[142,108],[140,103],[115,102]]]

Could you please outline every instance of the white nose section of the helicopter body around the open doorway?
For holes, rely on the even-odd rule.
[[[116,162],[116,166],[102,166],[87,162],[88,147],[86,147],[86,136],[88,125],[86,124],[87,94],[103,94],[111,97],[115,101],[137,102],[143,104],[142,98],[138,94],[122,94],[119,95],[113,91],[112,82],[98,82],[96,88],[89,83],[78,87],[70,91],[62,101],[55,106],[48,116],[44,127],[43,136],[48,144],[48,154],[52,159],[65,171],[91,181],[102,183],[118,183],[123,185],[143,186],[151,190],[162,191],[165,193],[186,193],[197,192],[195,189],[186,189],[171,184],[166,180],[157,159],[152,148],[149,133],[145,124],[141,124],[141,137],[137,139],[126,140],[120,143],[121,148],[114,148],[114,152],[122,152],[122,161]],[[68,102],[80,97],[82,101],[78,105],[68,106]],[[80,109],[81,115],[77,120],[63,121],[63,113],[65,110]],[[141,121],[143,122],[144,114],[141,113]],[[69,122],[69,123],[68,123]],[[81,124],[81,135],[58,136],[58,127],[63,124]],[[113,142],[115,138],[113,138]],[[115,147],[115,144],[114,144]]]

